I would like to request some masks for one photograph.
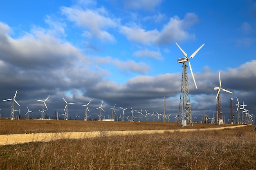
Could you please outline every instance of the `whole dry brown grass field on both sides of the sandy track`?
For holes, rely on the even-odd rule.
[[[163,122],[0,120],[0,134],[115,130],[201,129]],[[230,126],[230,125],[222,125]],[[58,139],[0,146],[0,169],[159,170],[256,169],[254,125],[150,135]]]

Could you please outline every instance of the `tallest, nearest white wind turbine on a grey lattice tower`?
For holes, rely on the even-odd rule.
[[[177,42],[176,42],[177,44]],[[191,113],[191,104],[190,104],[190,96],[189,96],[189,80],[188,80],[188,71],[187,71],[187,65],[186,62],[189,62],[189,68],[191,71],[191,75],[193,77],[194,83],[195,83],[195,77],[192,71],[192,67],[190,64],[190,59],[193,58],[196,53],[204,46],[200,46],[190,57],[180,48],[180,46],[177,44],[180,51],[184,54],[185,57],[177,59],[178,63],[183,63],[182,67],[182,83],[181,83],[181,91],[180,91],[180,107],[179,107],[179,115],[178,115],[178,121],[177,125],[181,124],[182,126],[187,126],[188,124],[191,124],[193,126],[193,120],[192,120],[192,113]],[[195,88],[197,89],[197,85],[195,83]]]

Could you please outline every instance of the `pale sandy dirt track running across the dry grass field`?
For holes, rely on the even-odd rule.
[[[239,128],[247,125],[228,126],[220,128],[203,128],[203,129],[171,129],[171,130],[128,130],[128,131],[97,131],[97,132],[59,132],[59,133],[31,133],[31,134],[14,134],[0,135],[0,145],[22,144],[35,141],[52,141],[57,139],[84,139],[90,137],[102,137],[111,135],[135,135],[135,134],[155,134],[164,132],[192,132],[205,130],[222,130]]]

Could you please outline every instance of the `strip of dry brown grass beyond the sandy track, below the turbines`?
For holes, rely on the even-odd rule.
[[[174,122],[130,122],[130,121],[74,121],[74,120],[26,120],[10,121],[0,119],[0,135],[21,133],[48,133],[48,132],[88,132],[114,130],[166,130],[215,128],[234,125],[193,124],[193,126],[176,126]]]

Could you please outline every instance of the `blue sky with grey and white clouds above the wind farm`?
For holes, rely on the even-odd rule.
[[[131,115],[141,108],[164,113],[175,121],[180,103],[182,63],[188,57],[198,89],[188,68],[192,117],[213,117],[214,87],[222,88],[226,121],[233,98],[250,114],[256,112],[256,2],[253,0],[9,0],[0,5],[0,98],[13,98],[25,117],[79,114],[87,104],[91,118],[103,102],[102,116]],[[10,117],[11,101],[0,102],[0,114]],[[15,112],[15,115],[18,113]],[[117,117],[117,115],[116,115]],[[63,117],[61,117],[63,118]],[[148,118],[150,119],[150,118]],[[120,120],[120,119],[119,119]],[[145,117],[142,119],[145,121]],[[157,117],[155,117],[157,121]],[[167,121],[167,120],[166,120]]]

